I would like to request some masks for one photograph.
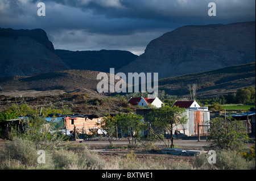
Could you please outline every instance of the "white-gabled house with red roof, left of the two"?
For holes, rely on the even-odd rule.
[[[163,105],[163,102],[158,97],[156,97],[156,98],[143,98],[143,97],[133,98],[133,97],[131,97],[128,100],[128,103],[133,105],[133,106],[142,106],[142,107],[146,107],[149,104],[151,104],[151,105],[154,105],[157,108],[160,108]]]

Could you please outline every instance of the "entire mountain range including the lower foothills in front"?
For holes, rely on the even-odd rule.
[[[0,66],[3,90],[93,92],[97,74],[115,68],[115,73],[157,72],[159,89],[167,94],[185,95],[188,83],[197,83],[202,95],[217,95],[255,87],[255,22],[180,27],[150,41],[141,56],[60,50],[42,29],[0,28]]]

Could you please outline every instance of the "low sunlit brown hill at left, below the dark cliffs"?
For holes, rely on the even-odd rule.
[[[65,92],[87,92],[89,94],[96,94],[98,82],[97,75],[100,71],[90,70],[63,70],[54,71],[34,76],[9,76],[0,77],[1,88],[0,94],[6,94],[13,91],[51,91],[61,90]],[[109,77],[109,73],[106,73]],[[102,81],[108,81],[102,79]],[[115,79],[118,82],[119,79]],[[110,82],[106,82],[108,87]],[[105,87],[104,87],[105,88]],[[107,88],[107,87],[106,87]],[[102,92],[101,95],[105,93]]]

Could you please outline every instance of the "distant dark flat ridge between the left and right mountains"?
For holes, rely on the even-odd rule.
[[[121,69],[138,56],[123,50],[69,51],[56,49],[55,53],[71,69],[109,73],[110,68]]]

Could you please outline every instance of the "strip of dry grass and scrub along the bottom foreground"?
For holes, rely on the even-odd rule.
[[[103,159],[82,145],[80,149],[46,150],[46,163],[37,162],[35,145],[27,140],[6,142],[0,149],[0,169],[44,169],[44,170],[247,170],[255,169],[255,159],[246,161],[234,152],[220,151],[217,153],[216,164],[208,163],[208,154],[199,155],[193,162],[158,159],[137,159],[130,151],[122,157]],[[160,157],[159,157],[160,158]]]

